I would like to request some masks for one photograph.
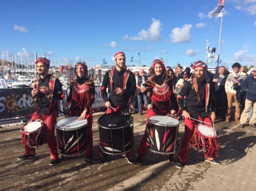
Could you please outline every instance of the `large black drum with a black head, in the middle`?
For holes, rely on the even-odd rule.
[[[98,119],[100,149],[106,154],[119,155],[134,146],[133,117],[120,112],[104,114]]]

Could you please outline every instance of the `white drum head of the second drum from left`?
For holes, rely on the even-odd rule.
[[[79,116],[63,118],[57,122],[56,126],[60,129],[70,130],[85,126],[88,123],[87,119],[77,120],[78,118]]]

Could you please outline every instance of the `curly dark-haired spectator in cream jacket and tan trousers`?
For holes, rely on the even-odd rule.
[[[232,65],[233,71],[227,76],[225,82],[225,91],[227,93],[227,115],[226,122],[230,122],[231,106],[233,99],[235,101],[235,122],[240,123],[240,94],[241,94],[241,82],[245,79],[246,74],[240,71],[240,63],[235,62]]]

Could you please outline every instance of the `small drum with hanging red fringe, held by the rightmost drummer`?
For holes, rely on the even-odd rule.
[[[206,152],[207,155],[216,152],[218,150],[216,131],[212,127],[204,124],[196,125],[190,141],[190,147],[193,147],[199,152]]]

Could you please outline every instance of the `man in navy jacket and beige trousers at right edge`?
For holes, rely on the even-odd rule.
[[[247,92],[244,110],[240,117],[238,127],[243,127],[247,121],[250,108],[253,106],[253,113],[249,120],[249,125],[255,127],[256,124],[256,66],[252,68],[252,74],[248,75],[242,82],[242,90]]]

